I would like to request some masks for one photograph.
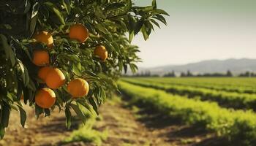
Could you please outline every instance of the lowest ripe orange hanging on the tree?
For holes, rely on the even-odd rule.
[[[42,88],[37,92],[35,101],[39,107],[48,109],[55,103],[56,95],[50,88]]]

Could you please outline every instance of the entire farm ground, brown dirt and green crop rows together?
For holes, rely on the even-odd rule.
[[[26,106],[31,119],[26,128],[18,126],[18,112],[12,112],[13,120],[0,145],[254,145],[255,94],[195,87],[192,82],[246,88],[253,87],[252,80],[121,78],[118,96],[100,107],[99,116],[88,115],[85,126],[74,116],[67,130],[65,115],[56,110],[50,118],[36,120],[34,110]],[[183,82],[190,84],[178,84]]]

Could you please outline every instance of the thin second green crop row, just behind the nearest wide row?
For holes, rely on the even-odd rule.
[[[216,101],[222,107],[234,109],[256,110],[256,96],[248,93],[233,93],[227,91],[214,91],[206,88],[195,88],[181,85],[162,84],[160,82],[149,82],[132,78],[122,79],[135,85],[143,87],[157,88],[169,93],[181,96],[187,95],[189,98],[200,98],[200,100]]]

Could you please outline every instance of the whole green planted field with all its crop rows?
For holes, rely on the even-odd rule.
[[[190,85],[178,85],[179,80]],[[256,95],[196,87],[208,82],[213,86],[248,88],[253,87],[252,81],[245,78],[123,78],[119,87],[135,103],[149,105],[182,123],[214,131],[217,137],[229,142],[254,145],[256,114],[252,110],[256,107]]]

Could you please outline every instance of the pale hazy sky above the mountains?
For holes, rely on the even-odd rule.
[[[148,41],[135,37],[143,59],[139,66],[256,58],[256,0],[158,0],[157,7],[170,17]]]

